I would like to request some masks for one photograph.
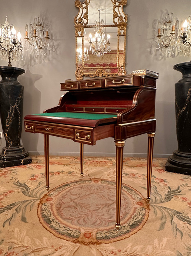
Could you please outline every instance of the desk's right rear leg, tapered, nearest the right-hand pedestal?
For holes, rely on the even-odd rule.
[[[148,155],[147,155],[147,203],[151,198],[151,177],[152,177],[152,158],[155,132],[148,133]]]

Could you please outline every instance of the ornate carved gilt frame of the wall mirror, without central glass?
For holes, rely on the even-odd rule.
[[[81,80],[83,76],[94,77],[103,77],[103,76],[117,76],[126,74],[125,70],[125,55],[126,55],[126,26],[127,26],[127,15],[123,11],[123,7],[126,5],[127,0],[110,0],[113,7],[113,24],[107,25],[88,25],[88,6],[91,0],[75,0],[75,7],[78,8],[78,14],[74,18],[74,27],[75,27],[75,41],[76,41],[76,79]],[[117,60],[116,66],[111,67],[107,66],[94,66],[86,67],[84,65],[84,30],[87,28],[107,28],[107,27],[116,27],[117,32]],[[120,50],[120,38],[123,39],[122,45],[123,49]],[[82,58],[81,61],[78,61],[78,41],[81,40],[82,48]],[[120,56],[120,53],[123,53]],[[97,57],[100,58],[100,57]],[[122,59],[121,59],[122,58]],[[105,63],[104,63],[105,64]],[[113,68],[113,69],[112,69]]]

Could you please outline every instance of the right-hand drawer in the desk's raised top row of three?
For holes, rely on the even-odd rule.
[[[133,75],[105,79],[105,87],[133,85]]]

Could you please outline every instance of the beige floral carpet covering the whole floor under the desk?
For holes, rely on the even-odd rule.
[[[154,159],[151,203],[147,160],[125,158],[121,229],[115,230],[115,158],[44,157],[0,169],[0,255],[191,256],[191,176]]]

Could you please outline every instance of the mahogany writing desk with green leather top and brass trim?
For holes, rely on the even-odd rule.
[[[49,191],[49,135],[83,145],[113,137],[116,145],[116,228],[120,228],[123,147],[125,139],[148,134],[147,203],[151,195],[152,155],[156,127],[155,90],[158,74],[146,69],[129,75],[68,81],[58,106],[24,117],[25,131],[44,134],[46,190]]]

